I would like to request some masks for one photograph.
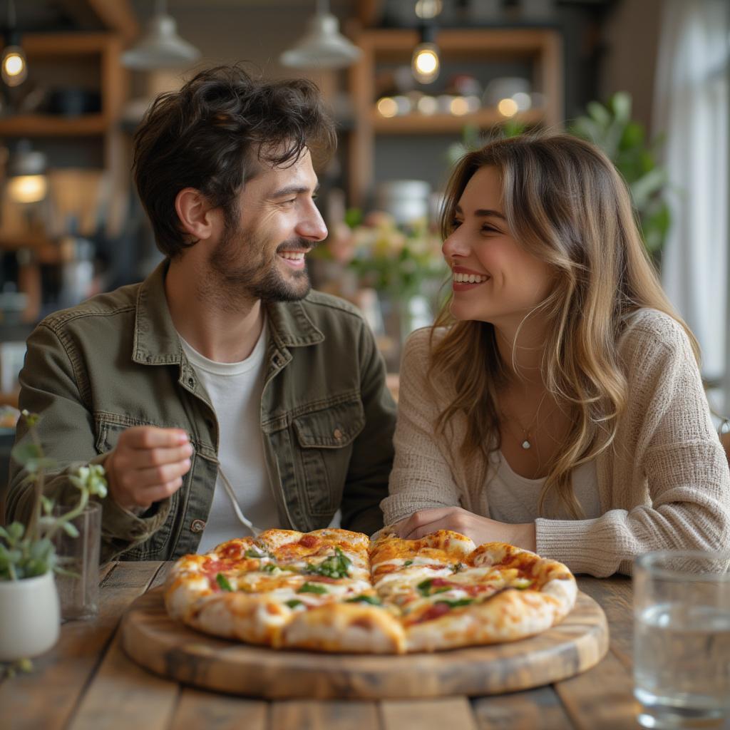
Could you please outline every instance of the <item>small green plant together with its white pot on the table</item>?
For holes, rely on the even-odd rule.
[[[45,472],[55,467],[47,458],[36,431],[38,415],[23,411],[29,442],[16,445],[12,458],[27,472],[34,491],[28,525],[20,522],[0,527],[0,661],[37,656],[58,639],[60,613],[54,572],[60,570],[53,539],[60,531],[77,537],[72,520],[82,513],[91,496],[107,493],[104,467],[82,466],[69,480],[78,489],[77,502],[61,514],[43,493]]]

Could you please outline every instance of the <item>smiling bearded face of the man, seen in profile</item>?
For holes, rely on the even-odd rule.
[[[310,279],[304,255],[327,236],[314,204],[317,176],[304,150],[288,167],[263,163],[247,180],[232,222],[210,255],[216,285],[231,304],[240,299],[296,301]]]

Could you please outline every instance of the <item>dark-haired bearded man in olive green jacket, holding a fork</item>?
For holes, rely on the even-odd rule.
[[[314,85],[201,72],[158,97],[134,178],[165,261],[142,284],[50,315],[28,339],[20,407],[73,491],[104,464],[102,556],[175,558],[280,526],[382,526],[394,404],[357,311],[310,292],[327,235],[312,153],[334,126]],[[18,439],[28,438],[23,426]],[[8,517],[32,493],[14,464]]]

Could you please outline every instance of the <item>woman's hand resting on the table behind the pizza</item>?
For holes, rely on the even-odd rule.
[[[400,520],[393,529],[404,539],[418,539],[436,530],[453,530],[471,537],[477,545],[483,542],[507,542],[525,550],[535,550],[535,523],[510,525],[480,517],[461,507],[434,507],[419,510]]]

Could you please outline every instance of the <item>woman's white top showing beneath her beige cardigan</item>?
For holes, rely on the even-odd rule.
[[[490,455],[491,469],[485,485],[489,516],[493,520],[511,524],[534,522],[541,515],[537,509],[540,492],[545,484],[545,478],[528,479],[520,477],[512,471],[512,467],[501,451]],[[573,493],[575,499],[590,520],[601,516],[601,502],[598,496],[598,476],[596,475],[596,461],[588,461],[573,469]],[[560,499],[548,496],[545,500],[545,509],[542,516],[557,520],[571,519],[569,512]]]

